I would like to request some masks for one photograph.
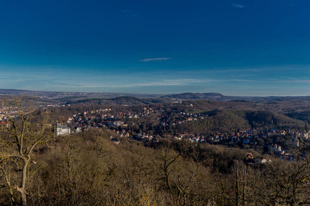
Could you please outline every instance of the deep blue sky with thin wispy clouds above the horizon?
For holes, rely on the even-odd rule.
[[[0,88],[310,95],[310,1],[0,1]]]

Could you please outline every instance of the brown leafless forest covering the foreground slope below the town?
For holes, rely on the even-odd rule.
[[[28,205],[310,203],[308,160],[247,163],[247,152],[260,155],[165,139],[116,145],[110,135],[90,130],[37,146],[25,183]],[[22,167],[19,159],[1,162],[1,205],[19,203]]]

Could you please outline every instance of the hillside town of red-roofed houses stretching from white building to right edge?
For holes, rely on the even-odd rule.
[[[276,128],[260,130],[236,130],[234,133],[212,133],[201,135],[197,133],[165,133],[156,128],[167,128],[177,124],[187,124],[208,118],[203,113],[178,113],[173,119],[165,110],[143,108],[142,112],[114,112],[112,108],[101,108],[92,111],[84,111],[68,117],[66,122],[57,126],[57,135],[80,133],[83,130],[96,128],[98,130],[112,130],[115,135],[111,137],[118,142],[125,137],[135,141],[158,141],[158,138],[175,140],[187,140],[196,143],[222,144],[229,147],[238,147],[259,150],[265,154],[274,155],[280,159],[292,159],[291,153],[285,148],[298,147],[300,141],[309,139],[310,130]],[[154,129],[147,130],[145,118],[152,118]],[[150,121],[150,120],[148,120]],[[285,141],[284,141],[285,139]]]

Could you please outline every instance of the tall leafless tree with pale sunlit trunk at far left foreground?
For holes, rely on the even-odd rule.
[[[28,170],[34,161],[34,149],[47,143],[53,137],[52,122],[48,111],[36,111],[28,98],[19,98],[6,102],[4,110],[6,126],[1,128],[0,163],[1,174],[6,177],[10,188],[11,202],[14,204],[12,188],[21,195],[21,205],[27,204]],[[15,165],[19,179],[12,185],[10,171],[4,170],[3,164]]]

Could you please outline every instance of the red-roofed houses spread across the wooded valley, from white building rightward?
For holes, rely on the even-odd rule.
[[[207,118],[205,114],[192,114],[180,112],[171,118],[165,111],[159,109],[145,107],[141,112],[117,112],[114,113],[111,108],[103,108],[94,111],[85,111],[72,115],[68,118],[67,124],[72,128],[59,124],[56,128],[57,135],[70,134],[71,131],[79,133],[81,130],[88,128],[110,128],[121,137],[132,137],[140,141],[157,141],[158,135],[164,138],[171,139],[187,139],[188,141],[209,144],[225,144],[229,146],[247,146],[247,148],[255,148],[260,146],[265,151],[273,152],[280,158],[287,159],[288,152],[282,149],[282,146],[273,137],[287,137],[291,135],[291,142],[294,146],[299,146],[300,139],[308,139],[310,131],[291,131],[291,130],[238,130],[235,133],[214,133],[212,135],[199,135],[192,133],[176,133],[174,135],[150,135],[149,133],[132,134],[130,127],[134,124],[141,126],[141,123],[136,122],[134,119],[141,117],[149,117],[154,114],[155,120],[159,125],[176,125],[185,122],[196,121],[198,119]],[[128,121],[128,122],[127,122]],[[137,120],[138,121],[138,120]],[[142,123],[143,124],[143,123]]]

